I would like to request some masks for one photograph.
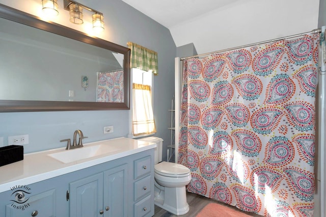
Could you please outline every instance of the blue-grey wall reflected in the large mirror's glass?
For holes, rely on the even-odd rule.
[[[116,71],[122,74],[115,91],[123,97],[123,54],[6,19],[0,26],[0,99],[96,102],[97,90],[105,90],[100,102],[115,102],[118,76],[101,76],[103,88],[97,86],[98,72]]]

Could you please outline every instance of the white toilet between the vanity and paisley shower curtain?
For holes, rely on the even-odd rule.
[[[162,161],[163,140],[158,137],[147,137],[140,140],[156,143],[154,151],[154,178],[156,206],[175,215],[183,215],[189,211],[185,185],[191,179],[190,170],[177,163]]]

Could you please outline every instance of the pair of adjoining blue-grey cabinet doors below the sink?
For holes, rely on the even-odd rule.
[[[69,183],[69,216],[127,216],[128,165]]]

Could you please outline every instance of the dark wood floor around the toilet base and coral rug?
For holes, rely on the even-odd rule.
[[[189,204],[188,213],[186,213],[184,215],[178,215],[178,216],[195,217],[201,211],[201,209],[204,208],[208,203],[220,203],[218,201],[215,201],[215,200],[212,200],[212,199],[209,199],[209,198],[197,195],[197,194],[188,193],[188,192],[187,192],[187,202]],[[220,204],[224,204],[224,203],[220,203]],[[225,206],[237,209],[234,206],[229,206],[226,204],[225,204]],[[258,215],[255,213],[250,213],[250,212],[246,212],[246,213],[251,216],[261,217],[261,215]],[[158,206],[155,206],[154,217],[175,217],[175,216],[177,216],[177,215],[174,215],[164,209],[161,209]],[[218,216],[218,217],[223,217],[223,216]]]

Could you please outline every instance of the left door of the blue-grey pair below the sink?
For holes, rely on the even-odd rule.
[[[102,216],[103,173],[69,183],[69,216]]]

